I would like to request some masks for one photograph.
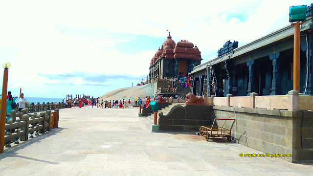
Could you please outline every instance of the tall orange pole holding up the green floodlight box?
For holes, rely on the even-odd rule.
[[[300,91],[300,24],[291,23],[294,26],[293,35],[293,90]]]

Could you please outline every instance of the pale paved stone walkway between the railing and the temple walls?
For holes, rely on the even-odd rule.
[[[1,176],[312,176],[313,165],[260,154],[226,139],[151,132],[136,109],[60,110],[52,129],[0,154]]]

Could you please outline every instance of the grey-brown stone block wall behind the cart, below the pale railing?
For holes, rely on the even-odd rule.
[[[212,119],[234,116],[233,107],[213,106],[212,112]],[[235,108],[235,118],[232,136],[237,143],[263,153],[292,154],[283,157],[291,162],[313,162],[313,111]]]

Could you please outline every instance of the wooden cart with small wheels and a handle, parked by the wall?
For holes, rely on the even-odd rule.
[[[230,119],[232,116],[226,118],[226,119],[220,119],[220,118],[215,118],[213,121],[212,126],[201,126],[199,129],[199,134],[201,136],[205,136],[205,139],[208,141],[209,137],[226,137],[227,141],[230,142],[231,140],[231,129],[234,126],[235,119]],[[225,120],[224,124],[222,127],[219,126],[213,126],[215,123],[215,120]],[[224,128],[224,125],[227,120],[232,120],[233,123],[230,127],[230,129]]]

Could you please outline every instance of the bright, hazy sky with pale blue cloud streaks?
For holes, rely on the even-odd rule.
[[[188,40],[201,63],[227,41],[239,47],[290,25],[311,0],[0,0],[0,64],[8,90],[27,97],[101,96],[149,74],[167,39]],[[3,79],[3,72],[0,71]],[[2,81],[0,81],[2,87]]]

